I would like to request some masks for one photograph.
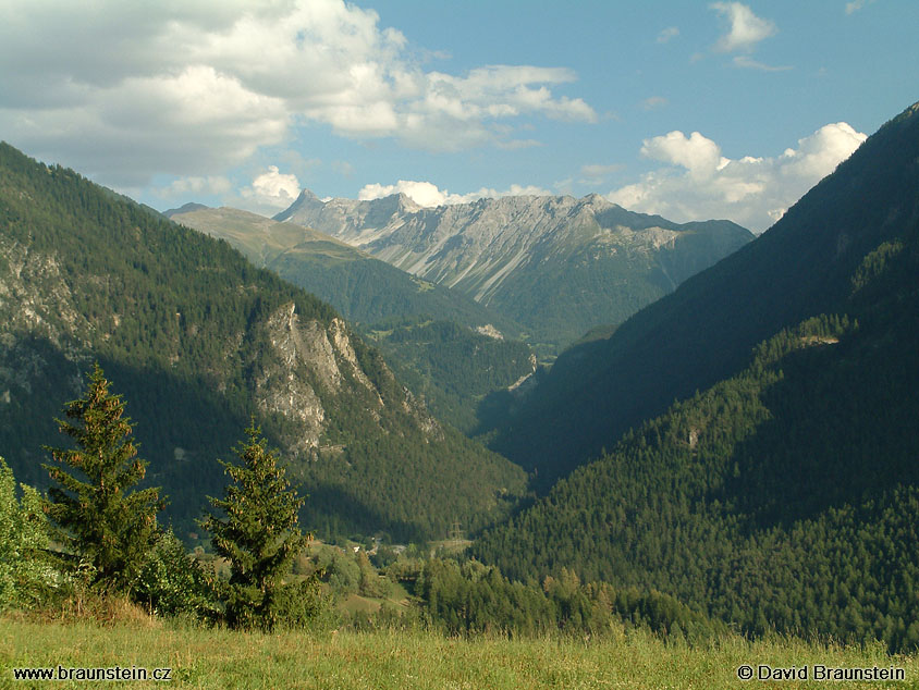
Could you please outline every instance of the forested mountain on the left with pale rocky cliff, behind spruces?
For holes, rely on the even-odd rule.
[[[42,444],[97,359],[127,401],[148,481],[191,523],[250,416],[321,533],[475,529],[519,469],[438,423],[328,305],[59,167],[0,145],[0,454],[45,482]]]

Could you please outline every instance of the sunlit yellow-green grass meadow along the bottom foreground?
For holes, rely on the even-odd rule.
[[[737,669],[902,668],[897,682],[757,679]],[[880,648],[838,648],[798,640],[727,638],[704,646],[665,643],[644,633],[603,640],[448,639],[424,631],[243,633],[136,620],[40,623],[0,618],[0,687],[86,688],[79,680],[14,680],[21,667],[171,668],[172,688],[919,688],[919,657]],[[106,687],[163,687],[111,681]]]

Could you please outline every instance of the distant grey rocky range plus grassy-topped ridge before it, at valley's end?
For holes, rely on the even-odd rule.
[[[323,202],[304,190],[275,220],[197,204],[166,214],[332,304],[466,433],[491,426],[489,396],[536,371],[514,341],[551,360],[588,328],[625,318],[750,237],[726,222],[629,213],[597,195],[421,209],[404,195]],[[408,255],[393,255],[399,243],[421,247],[408,255],[425,255],[425,276]],[[444,273],[453,264],[462,275]],[[482,281],[487,293],[468,292]]]

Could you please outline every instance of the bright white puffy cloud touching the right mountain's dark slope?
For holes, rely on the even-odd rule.
[[[627,209],[684,222],[728,218],[755,232],[779,220],[867,138],[845,122],[828,124],[779,156],[725,158],[698,132],[647,139],[641,155],[664,168],[609,194]]]

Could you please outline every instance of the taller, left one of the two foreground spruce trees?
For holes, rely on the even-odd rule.
[[[98,362],[85,397],[68,403],[58,419],[75,448],[52,448],[54,465],[42,465],[57,485],[48,490],[46,513],[57,525],[61,554],[91,566],[90,581],[109,592],[130,593],[157,533],[159,489],[131,489],[144,479],[125,403],[109,392]],[[71,468],[71,471],[68,470]]]

